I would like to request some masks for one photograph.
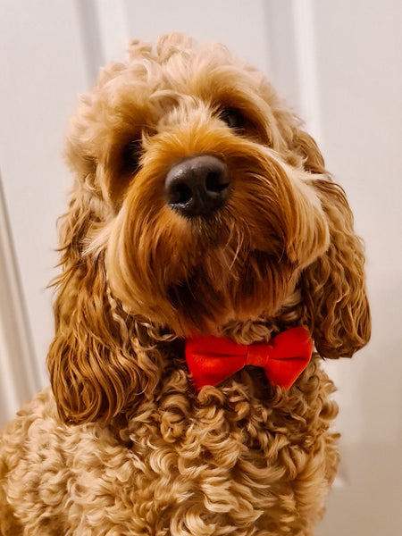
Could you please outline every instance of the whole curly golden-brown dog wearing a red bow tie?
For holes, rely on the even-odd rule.
[[[339,463],[322,359],[370,338],[313,138],[259,71],[170,34],[101,71],[66,158],[51,389],[3,431],[0,533],[313,534]]]

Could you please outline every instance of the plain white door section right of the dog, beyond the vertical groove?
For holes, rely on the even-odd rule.
[[[346,485],[322,536],[402,527],[401,23],[399,0],[314,2],[322,148],[364,237],[373,314],[369,346],[335,365]]]

